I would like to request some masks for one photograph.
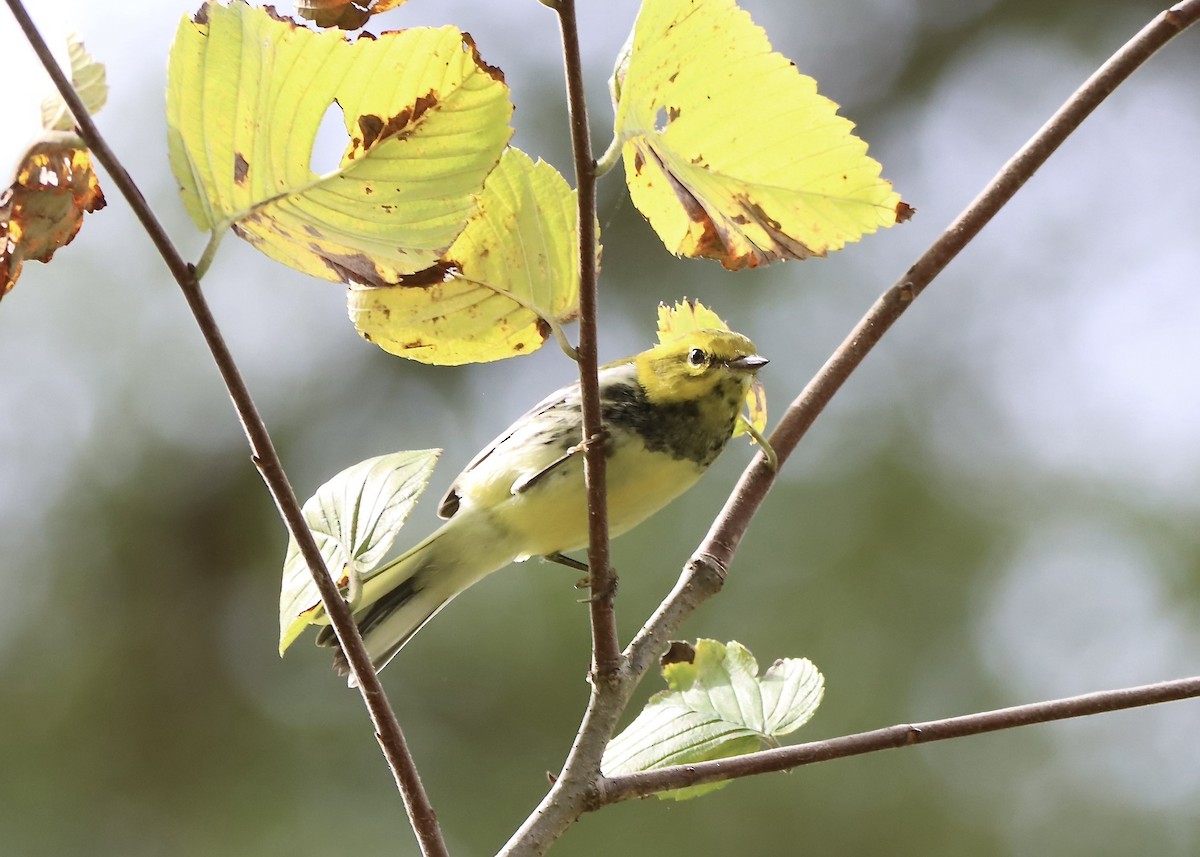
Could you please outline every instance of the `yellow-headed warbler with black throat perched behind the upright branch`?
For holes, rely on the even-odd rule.
[[[730,330],[691,330],[602,366],[608,531],[619,535],[690,489],[733,428],[767,364]],[[438,507],[448,521],[362,582],[354,619],[383,669],[458,593],[512,562],[588,544],[576,382],[541,400],[476,455]],[[337,646],[329,618],[319,646]],[[334,666],[349,673],[338,651]]]

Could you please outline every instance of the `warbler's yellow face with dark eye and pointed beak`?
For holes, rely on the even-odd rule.
[[[746,394],[767,359],[732,330],[692,330],[635,358],[637,380],[654,403],[725,398]]]

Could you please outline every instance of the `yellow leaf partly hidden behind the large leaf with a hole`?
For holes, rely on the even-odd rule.
[[[442,262],[398,286],[349,289],[350,319],[384,350],[458,365],[527,354],[578,310],[575,192],[508,149]]]

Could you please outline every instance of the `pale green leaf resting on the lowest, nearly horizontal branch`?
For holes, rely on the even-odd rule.
[[[738,642],[696,642],[690,661],[662,669],[668,690],[612,739],[600,762],[607,775],[727,759],[774,747],[816,713],[824,677],[808,659],[775,661],[762,677]],[[709,783],[664,792],[677,801],[722,787]]]

